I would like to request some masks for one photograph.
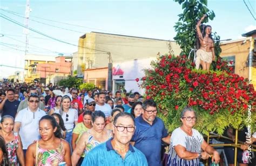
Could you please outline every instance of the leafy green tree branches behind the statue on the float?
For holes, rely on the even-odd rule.
[[[196,47],[197,31],[196,25],[197,20],[203,17],[207,13],[208,17],[203,20],[203,23],[207,23],[208,19],[213,20],[215,14],[213,11],[210,11],[207,8],[207,0],[174,0],[182,5],[183,13],[180,13],[179,20],[174,25],[174,29],[177,32],[174,40],[180,45],[182,52],[181,55],[189,55],[191,49]],[[216,36],[216,33],[213,33],[213,39],[219,39],[219,36]],[[215,43],[215,51],[219,56],[221,50],[219,49],[219,41]],[[194,54],[191,54],[193,59]]]

